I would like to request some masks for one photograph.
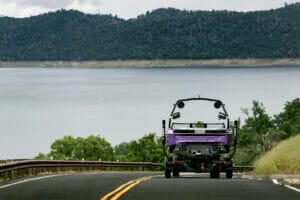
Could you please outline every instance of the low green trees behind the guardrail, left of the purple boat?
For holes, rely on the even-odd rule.
[[[150,133],[115,147],[100,135],[86,138],[65,136],[52,143],[48,154],[39,153],[36,159],[159,163],[164,160],[164,156],[161,138]]]

